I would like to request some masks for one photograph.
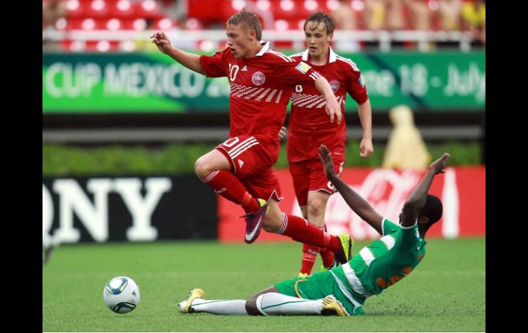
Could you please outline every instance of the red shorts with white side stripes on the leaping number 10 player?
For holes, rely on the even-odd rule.
[[[250,135],[232,137],[219,144],[216,149],[228,159],[231,170],[255,198],[283,200],[280,196],[278,177],[273,172],[272,162],[261,143]]]

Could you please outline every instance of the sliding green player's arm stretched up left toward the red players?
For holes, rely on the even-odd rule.
[[[374,208],[359,194],[357,194],[352,188],[350,188],[344,181],[341,181],[334,171],[334,164],[332,162],[331,153],[326,146],[321,145],[319,148],[319,158],[323,163],[324,175],[329,181],[333,183],[336,190],[341,193],[341,196],[345,199],[347,205],[359,215],[365,222],[371,225],[380,235],[383,235],[381,229],[381,222],[383,216],[376,213]]]

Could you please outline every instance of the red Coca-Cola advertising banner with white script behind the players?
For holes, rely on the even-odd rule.
[[[485,236],[485,167],[446,168],[433,180],[429,193],[444,204],[442,219],[429,229],[428,237],[459,238]],[[287,214],[302,216],[288,170],[275,170],[284,200],[280,209]],[[398,223],[398,215],[424,172],[391,169],[346,168],[341,179],[365,198],[374,209]],[[245,222],[241,207],[218,196],[218,238],[221,242],[242,242]],[[350,233],[355,240],[376,239],[379,234],[361,220],[336,193],[328,200],[325,214],[328,231]],[[291,240],[263,231],[259,242]]]

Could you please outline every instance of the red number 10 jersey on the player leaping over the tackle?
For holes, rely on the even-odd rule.
[[[229,79],[229,137],[253,135],[276,159],[278,131],[293,89],[297,84],[315,89],[320,75],[306,63],[269,49],[269,42],[261,45],[252,58],[235,58],[228,47],[213,56],[200,56],[200,65],[210,78]]]

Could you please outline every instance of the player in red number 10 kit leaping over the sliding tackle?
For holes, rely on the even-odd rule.
[[[280,186],[272,171],[280,148],[278,133],[296,85],[315,86],[326,100],[328,126],[341,124],[341,110],[330,84],[306,62],[269,49],[269,42],[261,41],[258,16],[248,10],[230,17],[226,34],[228,47],[213,56],[176,49],[163,32],[152,35],[152,43],[180,64],[208,77],[225,76],[230,83],[229,139],[197,159],[197,176],[217,194],[243,207],[248,244],[264,229],[325,247],[337,262],[346,262],[350,236],[333,236],[304,218],[281,212]]]

